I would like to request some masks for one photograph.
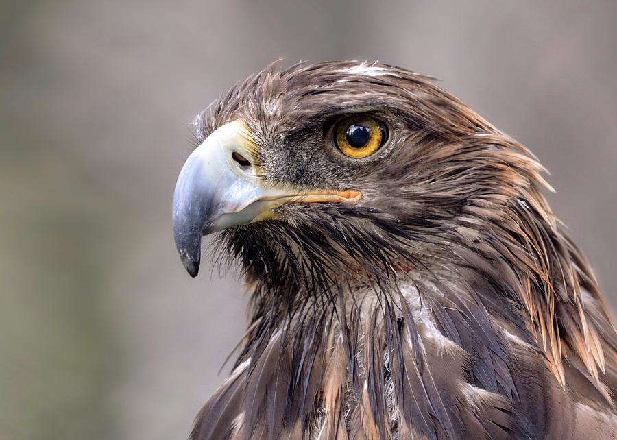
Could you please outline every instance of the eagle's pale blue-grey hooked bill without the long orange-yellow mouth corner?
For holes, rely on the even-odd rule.
[[[234,121],[210,134],[180,171],[173,191],[173,238],[193,277],[199,271],[202,236],[254,217],[245,208],[264,193],[256,185],[254,150],[246,125]]]

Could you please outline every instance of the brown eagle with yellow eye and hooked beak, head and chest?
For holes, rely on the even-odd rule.
[[[433,78],[273,64],[194,122],[173,234],[249,322],[191,439],[617,439],[617,334],[531,152]]]

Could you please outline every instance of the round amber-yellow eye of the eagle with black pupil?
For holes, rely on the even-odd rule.
[[[357,116],[343,119],[335,126],[334,141],[345,156],[366,158],[388,140],[385,123],[372,117]]]

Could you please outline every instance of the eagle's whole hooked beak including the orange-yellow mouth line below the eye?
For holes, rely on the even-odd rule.
[[[258,147],[249,127],[219,127],[186,159],[173,191],[173,238],[191,276],[199,272],[202,236],[272,218],[282,204],[348,202],[359,191],[319,190],[271,184],[259,175]]]

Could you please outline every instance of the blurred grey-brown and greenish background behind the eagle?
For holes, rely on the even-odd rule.
[[[188,122],[277,58],[441,78],[551,170],[616,308],[614,0],[1,1],[0,439],[186,439],[245,325],[173,247]]]

